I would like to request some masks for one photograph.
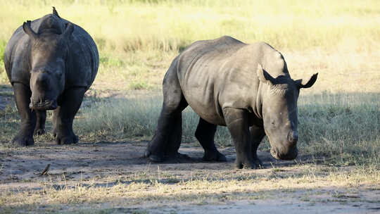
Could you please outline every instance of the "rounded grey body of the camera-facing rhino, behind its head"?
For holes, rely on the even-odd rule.
[[[49,30],[61,34],[65,30],[68,20],[49,14],[33,20],[31,23],[34,32]],[[4,64],[9,80],[30,83],[30,45],[31,40],[23,31],[23,26],[18,27],[9,40],[4,53]],[[91,36],[74,24],[74,31],[69,43],[68,57],[65,61],[65,88],[90,87],[94,82],[99,68],[99,53]]]

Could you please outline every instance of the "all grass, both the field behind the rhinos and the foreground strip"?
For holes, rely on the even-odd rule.
[[[213,184],[215,188],[208,189],[212,194],[220,191],[239,193],[243,191],[241,186],[247,187],[254,180],[258,180],[258,184],[269,182],[266,183],[268,186],[290,183],[289,187],[302,182],[319,185],[322,180],[321,185],[326,187],[333,183],[339,183],[339,187],[346,184],[353,187],[365,180],[379,189],[380,1],[0,0],[0,4],[6,8],[0,13],[1,56],[15,28],[25,20],[51,13],[51,6],[56,6],[62,18],[82,26],[94,38],[101,57],[99,73],[74,122],[75,132],[82,142],[150,140],[162,103],[163,75],[172,59],[196,40],[230,35],[246,43],[265,41],[283,53],[293,79],[319,73],[315,86],[303,89],[298,100],[300,155],[310,157],[307,162],[312,163],[298,165],[302,170],[308,168],[301,182],[299,177],[292,175],[285,180],[281,177],[271,180],[272,175],[268,175],[262,180],[258,177],[243,179],[245,182],[237,182],[228,189],[228,182],[239,177],[215,184],[208,180],[208,175],[202,174],[170,187],[154,180],[147,184],[147,194],[160,198],[165,195],[163,189],[173,187],[177,189],[170,191],[176,196],[186,185],[193,188],[194,182],[197,183],[194,188],[199,191],[196,194],[202,195],[201,189]],[[9,85],[2,57],[0,84],[3,88]],[[9,91],[0,93],[1,96],[12,96]],[[187,108],[183,118],[183,144],[199,146],[194,138],[197,116]],[[0,142],[6,145],[18,130],[18,123],[13,103],[0,110]],[[46,129],[51,130],[51,113]],[[36,143],[52,139],[47,134],[37,137]],[[222,148],[232,146],[224,127],[218,127],[215,141]],[[263,141],[259,149],[267,151],[269,144]],[[1,146],[0,151],[7,153],[12,149]],[[5,155],[0,153],[0,157]],[[348,180],[346,172],[341,170],[346,166],[353,170]],[[327,168],[329,175],[321,168]],[[226,179],[229,173],[229,170],[223,171],[215,175],[215,179]],[[144,176],[155,177],[156,174]],[[140,178],[128,179],[134,182]],[[129,195],[125,194],[131,191],[130,188],[131,194],[135,191],[133,185],[120,185],[124,185],[120,191],[115,191],[118,185],[108,189],[79,185],[63,191],[49,187],[44,189],[42,196],[41,193],[37,195],[40,195],[41,203],[53,199],[75,203],[70,202],[68,196],[76,199],[95,194],[95,199],[87,201],[91,202],[102,197],[105,191],[116,192],[110,200],[128,198]],[[23,204],[21,196],[33,203],[35,193],[27,194],[4,194],[0,196],[0,205],[1,202],[11,203],[11,199]],[[142,198],[144,196],[137,196],[137,201]]]

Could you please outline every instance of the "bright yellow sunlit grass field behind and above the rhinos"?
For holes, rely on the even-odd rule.
[[[338,82],[348,81],[346,75],[379,80],[379,1],[0,3],[7,8],[0,14],[0,55],[16,27],[51,13],[51,6],[56,6],[63,18],[82,26],[96,41],[101,56],[94,85],[98,88],[159,89],[179,51],[196,40],[222,35],[247,43],[265,41],[284,53],[297,77],[320,72],[319,78],[338,90],[343,89]],[[6,83],[2,62],[0,67],[0,82]],[[374,90],[355,83],[360,85],[355,89]]]

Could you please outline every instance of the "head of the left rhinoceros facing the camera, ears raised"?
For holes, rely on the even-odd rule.
[[[37,34],[27,21],[23,24],[23,30],[31,41],[30,108],[55,109],[58,96],[65,88],[65,61],[74,26],[68,23],[61,34],[49,30]]]

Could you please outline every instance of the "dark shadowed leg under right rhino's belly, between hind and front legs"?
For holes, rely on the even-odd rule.
[[[214,143],[214,136],[217,125],[211,124],[199,118],[198,127],[196,127],[196,139],[205,150],[203,160],[207,161],[227,161],[226,156],[217,151]]]

